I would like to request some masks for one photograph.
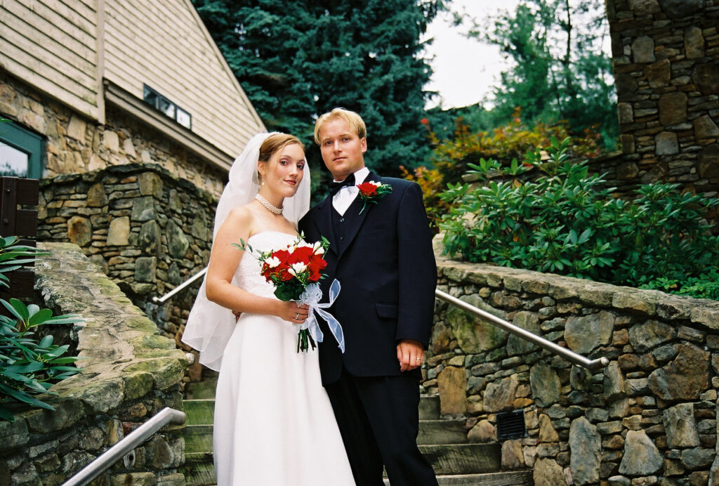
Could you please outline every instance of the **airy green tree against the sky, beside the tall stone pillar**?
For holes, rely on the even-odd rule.
[[[574,134],[602,134],[606,148],[618,137],[604,2],[523,0],[470,31],[502,48],[510,69],[495,88],[493,116],[506,122],[520,108],[528,122],[565,120]]]

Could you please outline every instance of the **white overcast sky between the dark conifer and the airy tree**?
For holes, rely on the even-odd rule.
[[[516,6],[518,0],[454,0],[450,8],[466,12],[477,19],[495,14],[498,9]],[[431,81],[425,86],[439,91],[441,100],[435,98],[428,107],[441,104],[442,108],[467,106],[477,103],[492,91],[495,79],[503,68],[499,47],[468,39],[462,35],[462,27],[452,27],[452,15],[439,14],[427,29],[434,42],[427,49],[427,57],[434,55]]]

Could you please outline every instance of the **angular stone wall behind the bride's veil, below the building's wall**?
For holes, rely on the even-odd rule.
[[[156,164],[117,165],[40,181],[38,239],[73,242],[175,339],[199,282],[152,303],[209,260],[214,195]]]

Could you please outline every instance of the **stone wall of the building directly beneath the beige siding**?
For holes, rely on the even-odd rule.
[[[43,177],[115,165],[156,163],[219,197],[226,171],[214,168],[132,116],[108,106],[99,125],[0,69],[0,115],[45,137]]]

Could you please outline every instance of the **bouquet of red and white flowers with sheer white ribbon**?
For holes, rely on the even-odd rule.
[[[321,242],[309,244],[303,241],[302,236],[298,237],[295,242],[288,244],[280,249],[273,249],[269,252],[254,252],[249,244],[240,242],[235,246],[249,250],[260,260],[260,275],[265,277],[267,282],[273,283],[275,286],[275,297],[280,301],[298,301],[307,304],[310,307],[310,313],[307,320],[300,326],[297,340],[297,351],[307,351],[309,346],[315,348],[315,341],[321,342],[323,339],[322,331],[319,329],[313,311],[319,313],[329,324],[330,331],[339,343],[340,349],[344,352],[344,338],[342,336],[342,326],[324,311],[334,303],[336,295],[339,293],[339,282],[334,280],[330,288],[330,302],[327,304],[319,303],[322,298],[322,291],[319,289],[319,280],[324,278],[321,270],[327,267],[324,260],[324,252],[329,248],[329,241],[322,237]]]

